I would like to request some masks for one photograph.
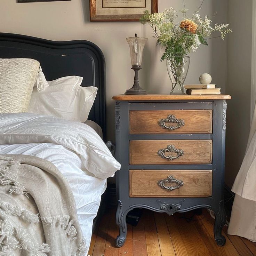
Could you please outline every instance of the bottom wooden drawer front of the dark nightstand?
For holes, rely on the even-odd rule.
[[[129,170],[129,177],[130,197],[211,196],[211,170]],[[168,187],[177,187],[178,184],[170,182],[173,178],[183,184],[170,190]]]

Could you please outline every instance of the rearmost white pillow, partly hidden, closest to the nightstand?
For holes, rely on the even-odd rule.
[[[85,122],[97,95],[97,87],[79,87],[74,102],[73,121]]]

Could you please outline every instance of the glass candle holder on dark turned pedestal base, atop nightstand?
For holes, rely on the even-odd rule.
[[[137,34],[135,34],[135,37],[126,38],[126,41],[128,42],[128,45],[130,47],[131,66],[132,66],[131,69],[134,70],[135,74],[134,74],[133,87],[127,90],[125,94],[147,94],[147,92],[139,86],[139,76],[138,76],[139,70],[142,69],[141,67],[142,54],[143,54],[143,49],[147,41],[147,38],[137,37]]]

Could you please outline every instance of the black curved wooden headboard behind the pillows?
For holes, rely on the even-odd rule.
[[[36,59],[48,81],[78,75],[83,77],[81,86],[97,87],[88,119],[101,126],[106,139],[105,59],[98,46],[86,40],[50,41],[0,33],[0,58]]]

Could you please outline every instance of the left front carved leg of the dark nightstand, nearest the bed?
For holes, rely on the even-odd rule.
[[[123,246],[126,240],[127,235],[127,224],[126,224],[126,215],[128,211],[123,213],[123,204],[120,200],[118,200],[117,212],[115,214],[115,221],[119,226],[119,235],[116,239],[117,247]]]

